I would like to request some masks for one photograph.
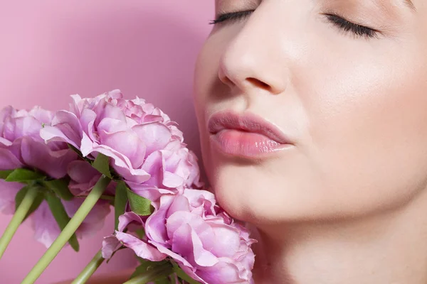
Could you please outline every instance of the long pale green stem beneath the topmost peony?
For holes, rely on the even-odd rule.
[[[86,197],[83,204],[77,212],[75,212],[73,218],[70,219],[70,222],[68,222],[67,226],[65,226],[58,238],[53,242],[46,253],[43,254],[38,263],[36,263],[36,266],[31,269],[30,273],[26,275],[26,278],[23,279],[21,284],[32,284],[36,282],[37,278],[40,277],[43,271],[45,271],[48,265],[53,261],[53,258],[58,255],[59,251],[63,246],[65,246],[65,244],[67,244],[70,237],[73,236],[80,224],[82,224],[83,220],[88,216],[90,210],[100,199],[102,192],[105,191],[105,188],[107,188],[110,181],[110,178],[102,175],[100,180],[97,181],[95,187],[93,187],[93,190],[90,191],[88,197]]]

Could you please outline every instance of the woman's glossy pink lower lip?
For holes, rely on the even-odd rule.
[[[260,158],[292,146],[291,144],[278,143],[259,133],[235,129],[219,131],[212,135],[211,139],[223,153],[243,158]]]

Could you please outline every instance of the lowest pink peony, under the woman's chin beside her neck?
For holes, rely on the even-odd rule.
[[[133,212],[120,217],[119,230],[103,243],[105,258],[122,244],[150,261],[173,258],[201,283],[251,283],[255,240],[216,205],[211,192],[185,189],[180,195],[163,195],[154,206],[145,222]],[[135,223],[144,227],[144,239],[124,232]]]

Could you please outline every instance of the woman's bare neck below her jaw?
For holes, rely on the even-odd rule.
[[[255,283],[425,284],[426,212],[419,197],[359,219],[258,226]]]

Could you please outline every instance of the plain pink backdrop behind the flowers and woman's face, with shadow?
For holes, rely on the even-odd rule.
[[[68,108],[70,94],[93,97],[121,89],[146,98],[177,121],[199,155],[191,92],[196,55],[209,34],[214,1],[3,1],[0,9],[0,107]],[[10,220],[0,215],[0,233]],[[66,248],[37,283],[73,278],[90,261],[102,231]],[[0,283],[20,283],[46,249],[21,226],[0,261]],[[99,273],[134,264],[120,251]]]

